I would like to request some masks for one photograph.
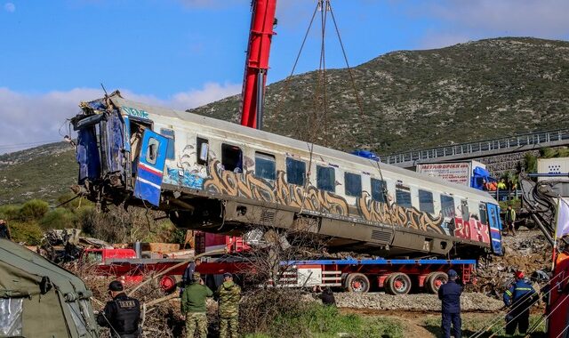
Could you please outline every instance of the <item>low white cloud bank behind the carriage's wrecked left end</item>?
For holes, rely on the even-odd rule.
[[[201,89],[175,93],[167,100],[121,90],[124,98],[172,109],[196,108],[239,93],[241,84],[204,84]],[[102,97],[100,89],[75,88],[44,94],[18,93],[0,87],[0,154],[62,141],[68,132],[66,120],[79,111],[81,101]]]

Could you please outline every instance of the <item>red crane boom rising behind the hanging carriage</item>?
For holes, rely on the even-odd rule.
[[[252,0],[251,30],[245,60],[241,125],[260,129],[270,41],[275,34],[276,0]]]

